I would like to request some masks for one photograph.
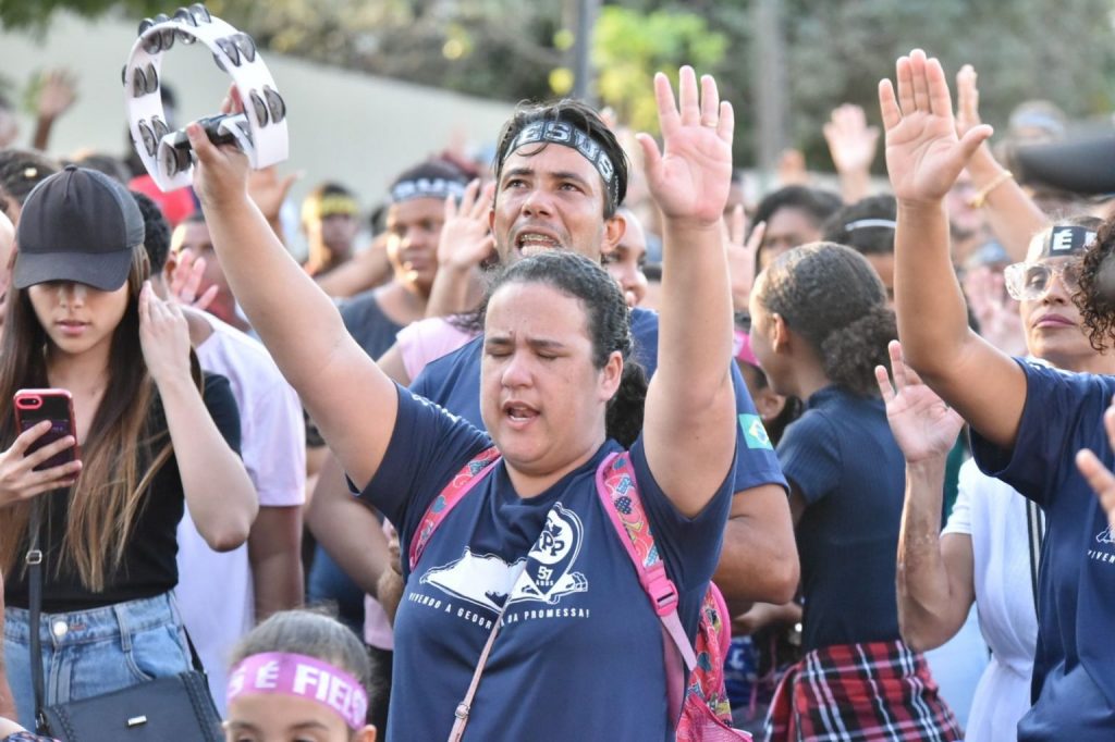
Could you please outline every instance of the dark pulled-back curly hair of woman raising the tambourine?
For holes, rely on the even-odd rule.
[[[589,321],[592,363],[598,370],[604,368],[613,352],[619,351],[623,359],[623,375],[619,390],[608,402],[605,428],[609,438],[629,448],[642,430],[647,374],[634,359],[630,312],[619,284],[599,263],[583,255],[562,250],[546,251],[500,269],[492,280],[482,311],[486,312],[495,292],[508,283],[542,283],[580,300]]]

